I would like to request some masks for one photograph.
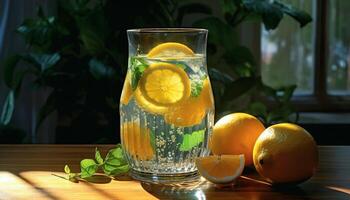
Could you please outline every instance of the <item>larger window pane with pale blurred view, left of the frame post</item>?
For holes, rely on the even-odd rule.
[[[315,19],[312,0],[284,1],[310,13]],[[349,1],[350,2],[350,1]],[[263,82],[273,88],[297,85],[295,94],[309,95],[314,85],[315,22],[304,28],[286,16],[276,30],[261,33],[261,75]]]

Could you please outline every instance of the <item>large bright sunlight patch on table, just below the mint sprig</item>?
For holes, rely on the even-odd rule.
[[[85,181],[73,183],[61,178],[67,176],[65,173],[50,171],[25,171],[21,172],[19,175],[37,187],[43,188],[58,199],[96,200],[130,199],[131,197],[132,199],[154,199],[152,195],[145,192],[139,182],[136,181],[112,180],[109,183],[101,184]]]

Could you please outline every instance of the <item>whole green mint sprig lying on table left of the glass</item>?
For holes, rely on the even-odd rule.
[[[100,151],[96,148],[95,159],[83,159],[80,161],[80,173],[72,173],[68,165],[64,166],[64,172],[72,182],[91,177],[99,169],[102,169],[107,176],[116,176],[129,171],[129,165],[120,145],[109,150],[105,159],[102,158]]]

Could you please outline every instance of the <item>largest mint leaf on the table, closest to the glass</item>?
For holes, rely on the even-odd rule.
[[[109,176],[129,171],[129,165],[126,162],[123,149],[120,145],[118,145],[117,148],[109,150],[102,169],[104,173]]]

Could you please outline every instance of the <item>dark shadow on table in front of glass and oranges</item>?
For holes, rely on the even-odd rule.
[[[241,176],[235,184],[216,185],[204,179],[190,184],[153,184],[141,182],[148,193],[159,199],[310,199],[311,193],[299,186],[273,187],[259,179]]]

